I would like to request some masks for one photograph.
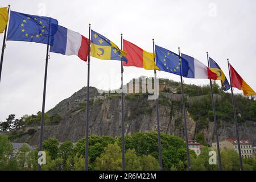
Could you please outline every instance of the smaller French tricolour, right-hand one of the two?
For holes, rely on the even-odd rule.
[[[217,79],[217,74],[210,71],[210,69],[201,63],[199,60],[195,59],[194,57],[185,55],[181,53],[181,57],[188,61],[188,75],[184,76],[187,78],[205,78],[205,79]]]

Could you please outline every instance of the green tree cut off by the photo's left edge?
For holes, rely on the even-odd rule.
[[[8,167],[13,152],[13,145],[6,135],[0,135],[0,170],[5,170]]]

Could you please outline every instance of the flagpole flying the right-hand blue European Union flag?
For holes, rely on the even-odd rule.
[[[153,41],[153,52],[155,54],[155,40],[152,39]],[[154,61],[155,61],[155,56],[154,56]],[[155,75],[155,92],[157,93],[157,86],[156,85],[156,70],[154,69],[154,75]],[[155,100],[155,104],[156,104],[156,119],[157,119],[157,125],[158,125],[158,156],[159,156],[159,167],[160,167],[160,171],[163,170],[163,159],[162,159],[162,147],[161,147],[161,134],[160,134],[160,123],[159,123],[159,103],[158,103],[158,98],[156,98]]]

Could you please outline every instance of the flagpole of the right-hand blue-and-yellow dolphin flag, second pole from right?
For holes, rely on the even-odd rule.
[[[207,62],[208,62],[208,68],[210,68],[208,52],[207,52]],[[215,134],[216,134],[216,143],[217,143],[217,152],[218,152],[218,168],[220,169],[220,171],[222,171],[220,144],[218,143],[217,117],[216,117],[216,110],[215,110],[215,106],[214,106],[213,89],[212,89],[212,79],[210,79],[210,94],[211,94],[211,98],[212,98],[212,110],[213,110],[213,118],[214,118]]]

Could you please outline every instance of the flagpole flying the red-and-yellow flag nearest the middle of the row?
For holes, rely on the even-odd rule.
[[[123,49],[123,34],[121,34],[121,49]],[[123,60],[121,59],[121,105],[122,105],[122,169],[125,171],[125,124],[123,115]]]

